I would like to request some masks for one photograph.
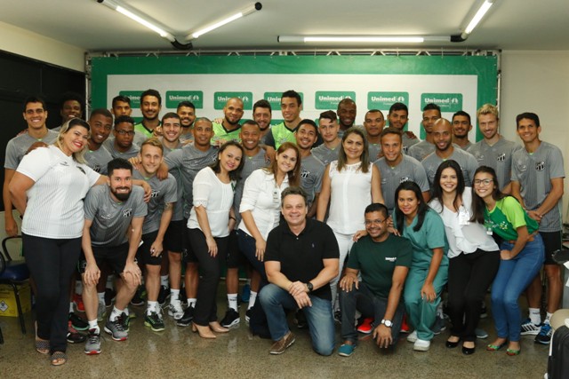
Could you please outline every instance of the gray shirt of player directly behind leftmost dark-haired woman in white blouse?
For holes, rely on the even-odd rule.
[[[194,198],[192,196],[192,188],[194,186],[194,178],[199,170],[207,166],[211,166],[217,159],[218,149],[210,146],[203,152],[196,149],[193,145],[183,146],[180,150],[176,150],[168,154],[164,158],[164,162],[168,166],[168,170],[180,169],[182,181],[182,196],[184,202],[184,218],[189,218],[189,212],[194,206]]]

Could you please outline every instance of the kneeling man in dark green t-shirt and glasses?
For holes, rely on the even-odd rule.
[[[413,259],[411,241],[388,232],[388,209],[380,203],[365,208],[365,230],[349,252],[346,275],[340,280],[341,337],[338,353],[349,357],[357,342],[356,309],[375,318],[373,338],[381,348],[397,343],[403,302],[399,302]],[[357,279],[361,272],[362,280]],[[381,320],[381,323],[379,322]]]

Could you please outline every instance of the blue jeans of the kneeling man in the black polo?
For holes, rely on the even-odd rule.
[[[310,296],[310,295],[309,295]],[[284,309],[297,309],[294,297],[283,288],[269,283],[260,290],[260,304],[267,314],[268,329],[274,341],[279,341],[288,332]],[[334,319],[332,304],[317,296],[310,296],[312,306],[302,308],[309,323],[312,348],[320,355],[331,355],[334,351]]]

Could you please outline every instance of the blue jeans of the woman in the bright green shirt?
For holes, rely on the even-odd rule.
[[[512,243],[502,242],[502,250],[511,250]],[[492,312],[499,338],[519,341],[522,317],[517,299],[540,271],[544,260],[541,235],[533,237],[514,259],[500,261],[492,285]]]

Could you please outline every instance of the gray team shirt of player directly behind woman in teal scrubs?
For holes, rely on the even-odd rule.
[[[381,173],[381,193],[385,206],[389,209],[389,214],[395,209],[395,191],[397,187],[408,181],[413,181],[419,185],[421,192],[429,191],[429,180],[427,173],[421,162],[409,155],[403,155],[403,160],[395,167],[389,166],[385,157],[374,162]]]

